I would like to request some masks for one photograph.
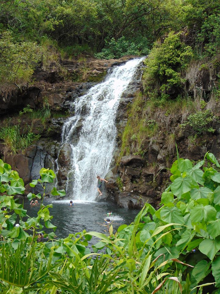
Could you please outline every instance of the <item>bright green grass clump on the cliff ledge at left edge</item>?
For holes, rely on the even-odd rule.
[[[35,135],[31,131],[22,134],[19,125],[7,125],[0,128],[0,139],[3,140],[5,155],[10,152],[15,154],[19,149],[24,150],[33,141],[38,140],[39,137],[39,135]]]

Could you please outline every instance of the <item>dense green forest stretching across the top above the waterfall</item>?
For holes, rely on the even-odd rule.
[[[161,89],[166,84],[181,88],[184,77],[180,75],[190,57],[192,61],[204,58],[200,65],[205,69],[209,58],[218,56],[219,26],[218,0],[4,0],[0,3],[0,84],[20,87],[31,80],[41,62],[45,67],[56,65],[80,54],[147,55],[158,38],[184,31],[182,36],[171,37],[171,33],[166,41],[168,46],[181,39],[176,47],[169,47],[170,54],[166,45],[161,49],[154,45],[147,74],[151,82],[159,78]],[[164,51],[161,60],[160,51]],[[162,66],[159,71],[153,59]]]

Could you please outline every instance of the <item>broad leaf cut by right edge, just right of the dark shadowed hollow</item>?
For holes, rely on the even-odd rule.
[[[220,250],[220,236],[215,239],[205,239],[199,244],[199,250],[213,260],[215,254]]]

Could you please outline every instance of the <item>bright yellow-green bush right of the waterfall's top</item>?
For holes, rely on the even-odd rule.
[[[192,48],[181,40],[181,33],[169,33],[164,43],[155,44],[145,60],[145,87],[152,87],[160,81],[160,90],[163,94],[172,87],[181,88],[184,79],[180,72],[187,67],[192,57]]]

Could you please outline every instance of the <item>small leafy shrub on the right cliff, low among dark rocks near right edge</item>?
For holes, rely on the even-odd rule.
[[[215,120],[216,117],[213,113],[209,109],[206,109],[189,115],[185,123],[182,123],[180,126],[183,129],[190,127],[190,130],[198,135],[206,132],[214,133],[215,129],[213,128],[213,124]]]

